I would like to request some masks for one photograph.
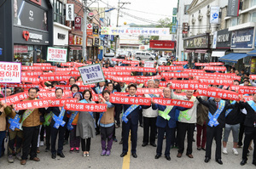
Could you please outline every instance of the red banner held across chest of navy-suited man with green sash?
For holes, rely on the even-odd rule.
[[[193,102],[180,100],[180,99],[153,98],[153,100],[156,104],[174,105],[174,106],[180,106],[185,108],[191,108],[194,105]]]

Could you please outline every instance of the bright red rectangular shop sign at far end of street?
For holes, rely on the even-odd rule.
[[[152,49],[174,49],[175,41],[150,40],[149,48],[152,48]]]

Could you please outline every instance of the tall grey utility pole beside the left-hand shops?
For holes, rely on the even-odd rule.
[[[86,52],[86,46],[87,46],[87,0],[84,1],[84,31],[83,31],[83,51],[82,51],[82,56],[83,56],[83,61],[87,60],[87,52]]]

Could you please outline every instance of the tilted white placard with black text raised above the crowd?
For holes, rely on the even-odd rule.
[[[102,66],[100,64],[79,67],[79,72],[83,79],[84,85],[105,81]]]

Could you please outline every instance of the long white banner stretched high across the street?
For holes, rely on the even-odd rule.
[[[169,36],[170,29],[147,27],[102,27],[101,35]]]

